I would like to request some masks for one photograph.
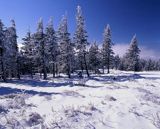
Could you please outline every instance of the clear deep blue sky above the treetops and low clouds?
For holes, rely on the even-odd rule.
[[[101,42],[104,27],[110,24],[115,43],[129,43],[136,33],[141,46],[160,50],[160,0],[0,0],[0,19],[6,26],[15,19],[21,41],[29,26],[35,31],[40,17],[46,25],[52,16],[57,29],[67,11],[73,34],[77,5],[82,7],[90,41]]]

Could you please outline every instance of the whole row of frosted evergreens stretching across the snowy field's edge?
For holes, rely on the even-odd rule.
[[[89,43],[85,30],[85,20],[81,7],[77,7],[76,30],[73,38],[68,32],[67,16],[60,21],[58,30],[53,28],[52,18],[46,28],[40,19],[35,33],[28,30],[23,38],[23,47],[18,51],[16,26],[4,28],[0,21],[0,76],[6,78],[17,77],[21,74],[40,73],[44,79],[47,73],[53,77],[66,73],[68,77],[75,71],[99,73],[99,69],[110,68],[130,71],[160,70],[160,61],[140,59],[140,49],[136,36],[133,37],[130,47],[123,58],[114,55],[110,26],[107,25],[103,33],[103,42],[99,48],[96,42]]]

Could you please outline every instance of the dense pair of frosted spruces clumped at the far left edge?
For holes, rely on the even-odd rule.
[[[16,26],[14,20],[11,23],[4,28],[0,20],[0,76],[4,81],[7,77],[20,78]]]

